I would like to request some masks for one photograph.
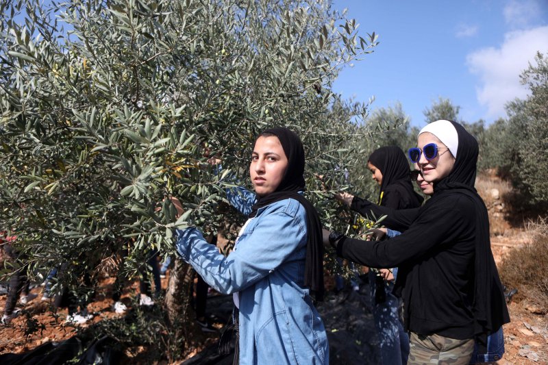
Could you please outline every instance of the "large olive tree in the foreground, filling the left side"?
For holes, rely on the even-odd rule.
[[[173,229],[234,221],[228,174],[248,184],[258,132],[297,131],[308,197],[326,222],[361,162],[362,103],[332,91],[338,72],[377,45],[329,0],[0,0],[0,227],[16,231],[29,273],[70,264],[62,285],[129,248],[173,253]],[[208,157],[220,155],[216,173]],[[321,179],[319,178],[321,175]],[[181,199],[175,218],[169,199]],[[236,221],[237,222],[237,221]],[[184,353],[190,269],[177,263],[166,307]]]

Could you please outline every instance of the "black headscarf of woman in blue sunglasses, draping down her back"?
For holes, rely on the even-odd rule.
[[[474,302],[477,344],[486,346],[486,334],[510,322],[504,291],[499,279],[489,237],[489,218],[484,201],[474,188],[479,147],[477,140],[462,125],[451,121],[458,134],[457,158],[451,173],[438,182],[434,194],[443,190],[460,190],[474,202],[475,221]]]

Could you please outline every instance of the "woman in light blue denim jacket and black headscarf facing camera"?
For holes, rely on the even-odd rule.
[[[249,173],[255,194],[229,201],[250,218],[227,257],[196,228],[177,230],[177,252],[239,315],[239,364],[329,364],[323,322],[310,292],[323,294],[321,225],[305,188],[304,150],[285,128],[256,140]],[[179,212],[180,213],[180,212]]]

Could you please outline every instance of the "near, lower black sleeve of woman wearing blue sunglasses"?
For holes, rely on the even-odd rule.
[[[343,238],[337,244],[337,254],[364,266],[397,267],[425,255],[436,244],[462,237],[473,226],[473,214],[466,212],[454,205],[437,204],[423,212],[403,234],[384,241]]]

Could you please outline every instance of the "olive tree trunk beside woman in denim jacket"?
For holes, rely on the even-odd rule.
[[[186,355],[203,343],[204,336],[195,321],[195,312],[190,305],[191,288],[194,285],[192,267],[182,260],[175,259],[169,275],[164,301],[167,321],[170,327],[168,339],[170,347]],[[177,351],[178,350],[178,351]],[[170,362],[176,359],[169,359]]]

